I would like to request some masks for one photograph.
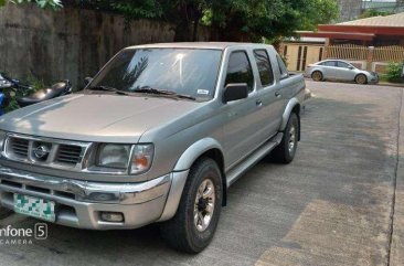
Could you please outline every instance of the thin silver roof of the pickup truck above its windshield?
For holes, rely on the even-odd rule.
[[[177,49],[212,49],[212,50],[225,50],[231,46],[268,46],[262,43],[241,43],[241,42],[172,42],[172,43],[153,43],[153,44],[141,44],[129,46],[127,49],[164,49],[164,47],[177,47]]]

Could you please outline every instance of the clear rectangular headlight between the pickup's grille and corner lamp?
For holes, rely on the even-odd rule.
[[[127,169],[130,145],[99,145],[95,164],[102,168]]]

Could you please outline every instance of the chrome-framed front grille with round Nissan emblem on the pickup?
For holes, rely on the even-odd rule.
[[[89,145],[20,135],[10,135],[6,142],[4,155],[10,160],[62,168],[79,168],[84,152]]]

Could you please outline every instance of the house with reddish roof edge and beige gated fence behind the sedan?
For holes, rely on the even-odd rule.
[[[404,12],[319,25],[316,32],[298,34],[300,39],[281,46],[289,71],[301,72],[308,64],[340,58],[383,73],[389,62],[404,61]]]

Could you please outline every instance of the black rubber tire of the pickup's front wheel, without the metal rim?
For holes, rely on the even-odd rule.
[[[194,208],[198,190],[204,180],[212,181],[215,202],[211,221],[201,232],[194,223]],[[174,217],[160,225],[162,238],[177,251],[191,254],[202,252],[211,243],[216,231],[222,210],[222,174],[217,163],[210,158],[198,160],[190,170]]]

